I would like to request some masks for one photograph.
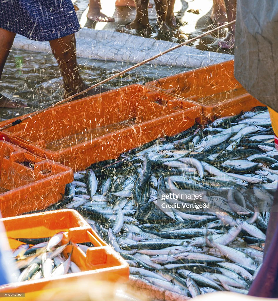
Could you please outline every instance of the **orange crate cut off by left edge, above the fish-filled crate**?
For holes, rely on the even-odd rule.
[[[0,141],[0,210],[3,217],[44,209],[56,203],[73,181],[69,167],[35,157]]]

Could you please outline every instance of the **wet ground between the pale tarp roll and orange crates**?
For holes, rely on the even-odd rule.
[[[132,64],[124,62],[78,59],[80,74],[85,84],[91,86],[107,77],[126,69]],[[182,71],[189,69],[184,68]],[[124,76],[115,78],[103,86],[113,89],[133,83],[148,81],[181,72],[178,67],[143,65]],[[1,109],[0,120],[9,119],[41,108],[63,98],[63,82],[55,59],[50,54],[12,50],[5,64],[1,79],[1,92],[27,102],[29,107]]]

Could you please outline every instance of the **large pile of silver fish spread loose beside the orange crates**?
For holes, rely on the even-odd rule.
[[[195,125],[76,172],[49,209],[79,211],[131,275],[157,287],[191,297],[247,293],[262,264],[278,182],[273,141],[262,107]],[[165,189],[207,193],[210,210],[163,211],[156,202]]]

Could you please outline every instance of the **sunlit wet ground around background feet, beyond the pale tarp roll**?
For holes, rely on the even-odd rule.
[[[123,0],[122,0],[123,1]],[[87,20],[88,13],[88,0],[73,0],[76,5],[76,13],[79,17],[81,27],[105,29],[105,30],[117,30],[130,34],[141,34],[135,30],[125,29],[125,24],[134,20],[135,8],[133,7],[115,7],[115,0],[102,0],[102,12],[109,17],[113,17],[115,22],[105,23],[98,22],[93,23]],[[167,35],[162,35],[158,32],[156,25],[156,10],[153,0],[150,0],[153,4],[153,8],[148,10],[149,21],[152,29],[151,38],[162,39],[172,42],[184,42],[187,39],[198,36],[199,34],[212,29],[213,24],[210,18],[212,9],[212,0],[176,0],[174,14],[180,20],[180,26],[178,30],[175,30]],[[221,49],[218,46],[219,39],[226,35],[227,31],[215,32],[214,36],[207,36],[202,40],[197,40],[193,45],[200,50],[217,51],[222,53],[233,54],[233,50]]]

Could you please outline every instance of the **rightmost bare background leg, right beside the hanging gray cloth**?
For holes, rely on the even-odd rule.
[[[236,0],[225,0],[228,22],[236,18]],[[235,23],[228,27],[228,33],[224,40],[220,41],[218,45],[221,48],[231,49],[235,44]]]

